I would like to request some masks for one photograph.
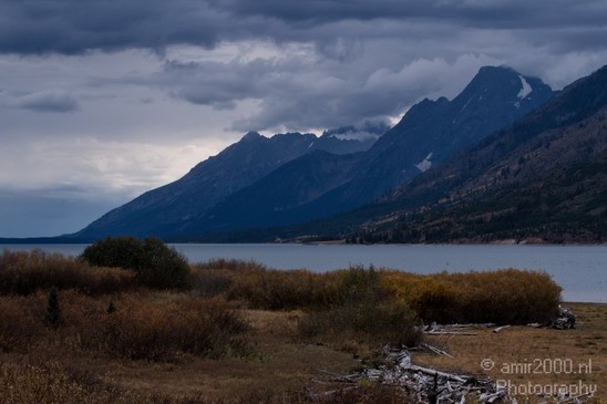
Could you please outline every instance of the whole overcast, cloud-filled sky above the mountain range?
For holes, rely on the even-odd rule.
[[[244,133],[394,123],[483,65],[562,89],[605,0],[0,0],[0,237],[74,232]]]

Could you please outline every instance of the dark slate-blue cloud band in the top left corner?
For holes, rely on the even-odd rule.
[[[78,54],[90,50],[216,41],[224,17],[204,1],[2,0],[0,52]]]

